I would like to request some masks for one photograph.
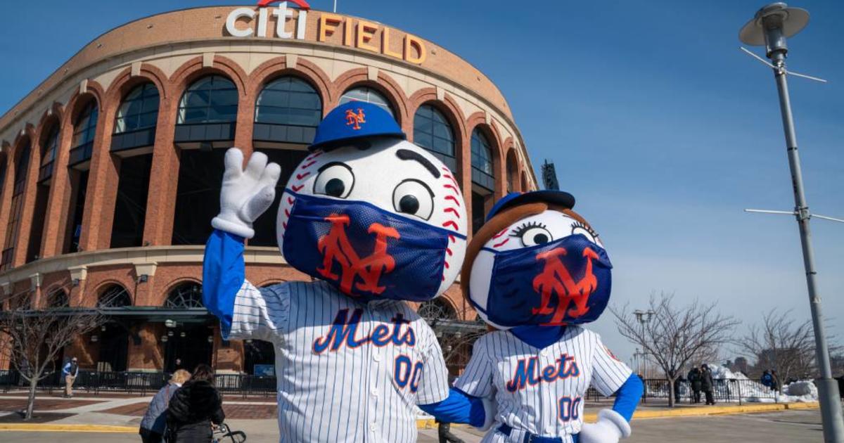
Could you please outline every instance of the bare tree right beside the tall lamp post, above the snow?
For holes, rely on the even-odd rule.
[[[794,321],[792,311],[768,311],[762,316],[762,324],[749,327],[737,344],[748,357],[756,359],[757,369],[776,370],[781,381],[816,371],[812,322]]]

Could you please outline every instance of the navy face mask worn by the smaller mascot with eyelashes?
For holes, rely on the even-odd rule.
[[[573,325],[594,321],[609,302],[607,251],[585,235],[495,251],[487,318],[502,327]],[[530,296],[533,294],[534,296]]]

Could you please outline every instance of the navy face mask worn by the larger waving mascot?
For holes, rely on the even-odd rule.
[[[434,298],[449,235],[370,203],[299,194],[284,230],[290,266],[361,301]]]

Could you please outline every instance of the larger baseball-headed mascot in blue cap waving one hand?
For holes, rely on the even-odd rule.
[[[244,239],[275,197],[279,165],[225,155],[203,297],[224,338],[272,342],[281,441],[416,440],[414,406],[450,422],[490,424],[483,400],[447,384],[422,302],[457,278],[466,213],[452,172],[387,111],[349,102],[329,112],[281,195],[279,249],[312,281],[256,288]]]

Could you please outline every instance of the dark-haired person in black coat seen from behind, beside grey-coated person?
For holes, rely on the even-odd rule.
[[[214,370],[197,365],[191,379],[170,398],[167,442],[210,443],[212,424],[222,424],[223,420],[223,397],[214,387]]]

